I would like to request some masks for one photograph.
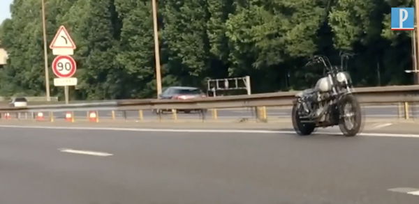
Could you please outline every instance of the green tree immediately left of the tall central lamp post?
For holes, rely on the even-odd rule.
[[[120,52],[116,59],[122,68],[123,91],[127,97],[154,95],[154,36],[150,1],[117,0],[122,19]]]

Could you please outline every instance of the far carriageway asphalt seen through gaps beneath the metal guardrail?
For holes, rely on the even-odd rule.
[[[365,116],[370,118],[397,118],[399,117],[399,107],[397,106],[369,106],[363,107]],[[403,111],[403,110],[401,110]],[[241,118],[255,118],[254,109],[219,109],[217,111],[219,119],[241,119]],[[402,112],[401,112],[402,113]],[[411,107],[409,109],[411,118],[419,118],[419,107]],[[402,113],[403,114],[403,113]],[[111,111],[98,111],[100,118],[112,118]],[[76,118],[87,118],[87,111],[75,111]],[[269,107],[267,108],[268,118],[289,118],[291,116],[291,108],[283,107]],[[24,116],[21,116],[24,118]],[[30,116],[29,116],[30,117]],[[54,113],[55,118],[64,118],[64,112]],[[139,118],[138,111],[115,111],[116,118],[126,118],[128,120],[135,120]],[[159,116],[152,111],[143,111],[143,117],[145,120],[156,120]],[[161,115],[163,119],[172,117],[170,112],[165,112]],[[206,118],[212,118],[212,113],[207,111]],[[201,119],[202,116],[198,112],[192,113],[178,113],[179,119]]]

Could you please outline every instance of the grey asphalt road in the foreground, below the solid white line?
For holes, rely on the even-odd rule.
[[[419,203],[419,138],[0,131],[5,204]]]

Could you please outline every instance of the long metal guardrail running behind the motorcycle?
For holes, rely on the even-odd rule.
[[[260,118],[266,118],[266,107],[291,106],[298,91],[207,97],[193,100],[115,100],[105,102],[84,102],[78,104],[49,104],[28,107],[0,107],[0,113],[24,113],[39,111],[124,111],[149,109],[228,109],[256,108]],[[419,86],[383,86],[355,88],[355,95],[362,104],[402,103],[404,118],[409,118],[409,103],[419,102]],[[402,109],[403,110],[403,109]],[[214,114],[214,113],[213,113]],[[216,113],[215,113],[216,114]]]

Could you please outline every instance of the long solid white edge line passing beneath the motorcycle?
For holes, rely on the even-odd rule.
[[[46,129],[46,130],[109,130],[128,132],[189,132],[189,133],[258,133],[258,134],[295,134],[294,131],[283,130],[205,130],[205,129],[156,129],[156,128],[124,128],[124,127],[52,127],[52,126],[19,126],[0,125],[6,128]],[[314,134],[341,135],[341,132],[315,132]],[[419,138],[419,134],[360,133],[360,136]]]

